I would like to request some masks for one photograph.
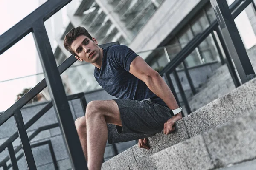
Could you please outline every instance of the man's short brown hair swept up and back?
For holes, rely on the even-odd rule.
[[[68,31],[68,33],[65,35],[65,38],[64,38],[64,47],[66,48],[67,51],[69,51],[74,56],[76,56],[76,52],[71,49],[71,44],[80,35],[85,35],[86,37],[93,40],[89,32],[84,27],[80,27],[80,26]]]

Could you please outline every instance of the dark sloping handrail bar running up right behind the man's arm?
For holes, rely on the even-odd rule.
[[[241,3],[242,1],[246,1],[247,3],[252,0],[236,0],[230,5],[230,11],[234,11]],[[245,2],[244,2],[245,3]],[[243,6],[239,6],[239,8],[236,9],[236,11],[232,14],[233,18],[236,18],[241,11],[243,11]],[[194,37],[172,60],[167,64],[160,72],[159,74],[163,76],[164,73],[171,73],[174,71],[175,68],[177,68],[178,65],[180,65],[188,55],[195,50],[195,48],[201,44],[208,36],[209,34],[214,31],[214,29],[218,26],[218,21],[215,20],[212,22],[208,28],[205,29],[205,31],[201,34],[198,34],[196,37]]]

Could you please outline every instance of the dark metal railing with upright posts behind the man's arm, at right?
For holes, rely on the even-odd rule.
[[[253,0],[236,0],[235,2],[233,2],[230,5],[230,11],[232,11],[232,17],[233,19],[236,18],[241,11],[243,11],[250,3],[253,3]],[[253,3],[254,4],[254,3]],[[255,10],[255,8],[254,8]],[[239,77],[236,74],[236,70],[235,70],[235,66],[233,65],[232,62],[232,57],[230,56],[230,52],[229,49],[227,48],[227,45],[225,43],[224,37],[221,34],[221,30],[218,27],[218,21],[215,20],[210,26],[208,26],[208,28],[205,29],[205,31],[203,31],[201,34],[198,34],[197,36],[195,36],[175,57],[174,59],[171,60],[171,62],[169,62],[169,64],[167,64],[160,72],[159,74],[161,76],[163,76],[166,80],[166,83],[169,85],[169,88],[172,90],[178,105],[180,105],[180,101],[177,97],[177,93],[175,92],[175,88],[173,86],[172,80],[170,78],[170,74],[174,74],[174,78],[175,81],[177,83],[178,89],[180,91],[180,95],[182,97],[182,101],[185,105],[186,108],[186,112],[188,114],[192,113],[188,99],[186,97],[185,91],[183,90],[183,86],[181,84],[181,81],[179,79],[179,76],[177,74],[177,70],[176,68],[180,65],[180,64],[184,64],[184,70],[186,73],[186,77],[189,80],[189,85],[191,88],[191,91],[193,91],[193,94],[195,94],[195,87],[193,85],[191,76],[189,74],[189,71],[187,70],[187,66],[186,63],[184,62],[184,60],[189,56],[189,54],[192,53],[192,51],[195,50],[195,48],[197,48],[201,42],[203,42],[208,36],[209,34],[212,34],[213,31],[217,32],[217,35],[219,37],[219,40],[221,42],[221,46],[224,49],[224,53],[226,55],[226,59],[225,62],[227,63],[227,67],[228,70],[230,71],[231,77],[233,79],[234,85],[236,87],[239,87],[241,85],[241,83],[239,82]],[[240,44],[242,46],[244,46],[243,44]],[[248,67],[252,67],[250,61],[246,63]],[[239,70],[238,70],[239,71]],[[255,77],[255,73],[254,73],[254,77]],[[250,79],[247,79],[247,81]],[[243,82],[244,83],[244,82]],[[183,114],[184,116],[184,114]]]

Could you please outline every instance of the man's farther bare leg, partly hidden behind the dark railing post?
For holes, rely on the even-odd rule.
[[[79,117],[78,119],[76,119],[75,121],[75,125],[76,125],[76,130],[80,139],[80,143],[84,152],[84,156],[86,161],[88,161],[88,157],[87,157],[87,137],[86,137],[86,118],[85,116],[83,117]]]

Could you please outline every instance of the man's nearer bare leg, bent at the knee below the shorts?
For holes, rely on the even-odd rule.
[[[107,123],[122,126],[118,105],[113,100],[92,101],[86,109],[89,170],[100,170],[108,139]]]

